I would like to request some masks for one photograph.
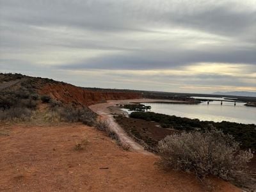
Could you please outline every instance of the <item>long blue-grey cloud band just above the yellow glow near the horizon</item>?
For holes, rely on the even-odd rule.
[[[177,68],[191,63],[250,63],[256,64],[256,51],[254,50],[230,50],[219,51],[136,51],[126,54],[113,54],[110,56],[99,56],[97,58],[72,63],[72,65],[61,65],[62,69],[128,69],[148,70]]]

